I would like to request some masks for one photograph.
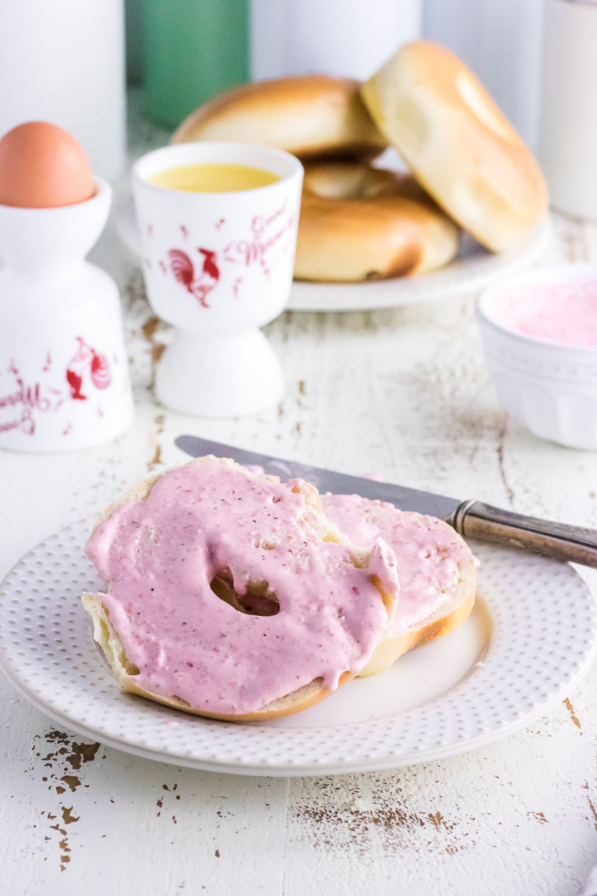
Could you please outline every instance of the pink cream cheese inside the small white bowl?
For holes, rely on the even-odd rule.
[[[509,287],[496,291],[485,313],[493,323],[533,339],[597,347],[597,280]]]

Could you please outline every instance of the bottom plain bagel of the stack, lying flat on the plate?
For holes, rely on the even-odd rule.
[[[414,177],[359,163],[305,170],[294,277],[355,282],[435,271],[458,230]]]

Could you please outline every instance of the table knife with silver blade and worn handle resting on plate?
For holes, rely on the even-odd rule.
[[[191,457],[214,454],[228,457],[243,466],[262,467],[281,479],[305,479],[318,491],[336,495],[361,495],[395,504],[399,510],[426,513],[448,522],[465,538],[480,538],[508,547],[520,547],[558,560],[597,568],[597,531],[562,522],[539,520],[512,513],[481,501],[458,501],[445,495],[398,486],[392,482],[348,476],[336,470],[322,470],[297,461],[285,461],[269,454],[247,451],[232,445],[211,442],[198,435],[179,435],[175,445]]]

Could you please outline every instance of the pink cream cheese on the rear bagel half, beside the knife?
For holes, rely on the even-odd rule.
[[[328,519],[355,544],[371,547],[383,538],[396,554],[400,600],[391,633],[419,625],[446,599],[458,581],[458,564],[473,559],[448,523],[360,495],[321,495]]]

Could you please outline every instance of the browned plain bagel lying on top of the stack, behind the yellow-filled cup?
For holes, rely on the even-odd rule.
[[[263,143],[301,159],[373,158],[388,141],[365,108],[360,86],[323,74],[243,84],[192,112],[172,142]]]

